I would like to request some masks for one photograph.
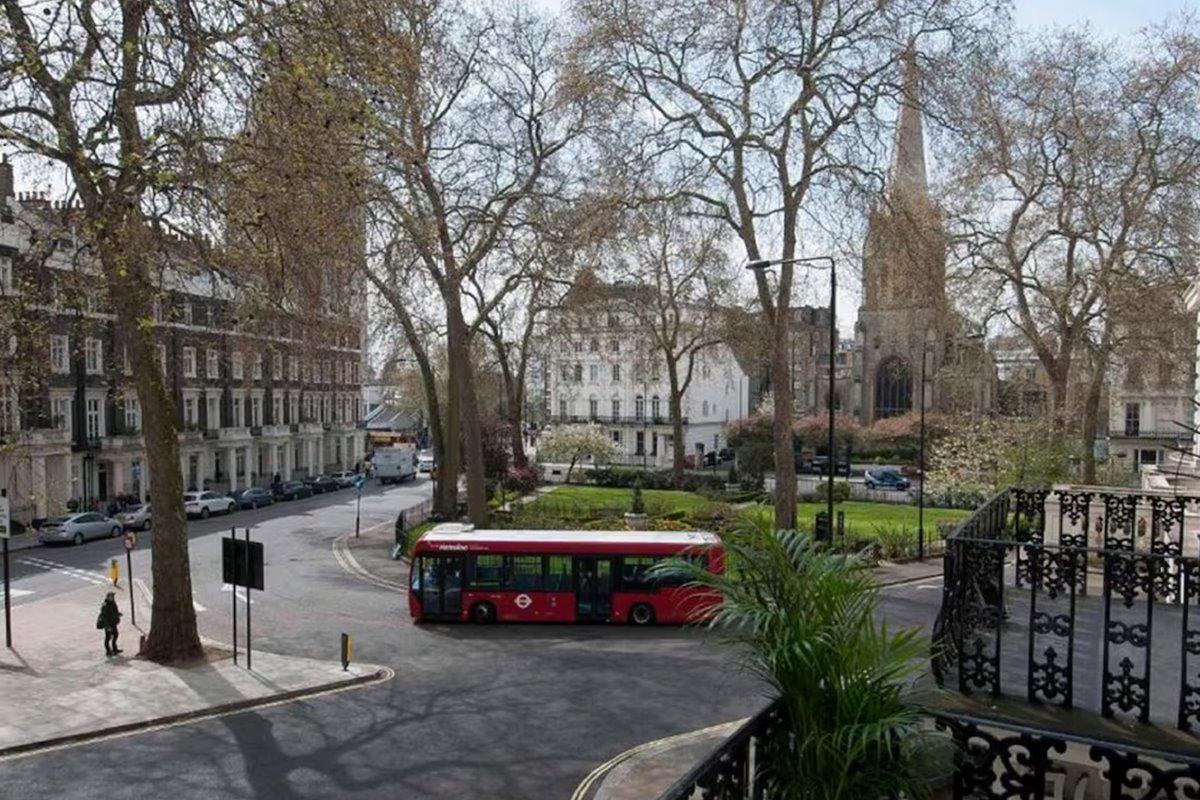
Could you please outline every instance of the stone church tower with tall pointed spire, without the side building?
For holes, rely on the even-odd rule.
[[[929,378],[925,404],[938,405],[932,377],[958,327],[946,297],[946,231],[929,192],[920,71],[911,47],[904,71],[887,185],[871,210],[863,243],[857,380],[864,423],[917,408],[923,357]]]

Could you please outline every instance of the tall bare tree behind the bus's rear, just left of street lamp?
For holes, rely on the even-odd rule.
[[[980,4],[983,8],[985,4]],[[745,257],[784,259],[772,285],[756,272],[772,332],[775,521],[796,522],[788,381],[794,266],[814,196],[871,176],[877,110],[895,96],[912,37],[946,43],[976,8],[962,2],[834,5],[810,0],[577,0],[580,72],[612,97],[620,150],[649,154]],[[618,148],[613,148],[618,151]],[[630,170],[636,172],[636,170]],[[816,225],[809,231],[816,233]]]

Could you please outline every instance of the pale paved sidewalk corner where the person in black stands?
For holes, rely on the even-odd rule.
[[[137,584],[136,584],[137,585]],[[140,589],[140,587],[139,587]],[[137,730],[223,711],[370,682],[390,675],[372,664],[343,672],[328,661],[253,655],[253,672],[205,642],[209,657],[186,668],[138,658],[149,631],[149,595],[137,591],[138,627],[130,625],[127,585],[116,589],[125,652],[108,658],[95,627],[106,587],[86,587],[12,609],[13,649],[0,648],[0,757]]]

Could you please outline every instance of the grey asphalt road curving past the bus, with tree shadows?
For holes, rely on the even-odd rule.
[[[391,525],[428,493],[427,480],[371,486],[362,524]],[[206,636],[229,639],[220,539],[232,524],[251,525],[265,547],[265,591],[252,595],[256,648],[336,660],[344,631],[358,661],[388,664],[396,679],[0,762],[0,796],[565,800],[629,747],[763,703],[730,651],[694,630],[414,625],[402,594],[332,558],[332,541],[354,529],[349,491],[191,523]],[[143,539],[134,553],[145,578],[148,548]],[[17,553],[13,585],[31,593],[17,602],[77,588],[122,553],[120,540]]]

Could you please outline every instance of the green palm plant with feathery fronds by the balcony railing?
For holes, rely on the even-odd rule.
[[[726,573],[685,573],[720,601],[703,615],[740,645],[779,693],[786,735],[763,759],[766,796],[870,800],[924,796],[949,750],[923,723],[914,681],[928,648],[917,631],[876,620],[878,593],[853,555],[751,517],[726,537]]]

